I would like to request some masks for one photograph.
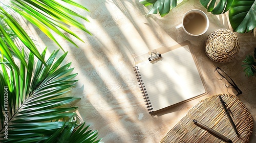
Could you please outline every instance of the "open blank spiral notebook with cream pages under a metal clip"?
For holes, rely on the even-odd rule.
[[[148,60],[148,54],[135,57],[135,74],[149,113],[207,92],[188,43],[158,51],[155,61]]]

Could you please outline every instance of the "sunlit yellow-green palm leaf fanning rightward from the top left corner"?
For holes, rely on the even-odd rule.
[[[88,34],[91,34],[81,23],[77,22],[72,16],[80,17],[86,21],[89,21],[86,17],[72,11],[71,9],[61,5],[56,1],[30,1],[30,0],[12,0],[13,9],[23,15],[27,20],[29,20],[33,25],[42,30],[49,38],[51,38],[56,44],[60,44],[56,39],[51,35],[50,30],[53,30],[69,42],[76,45],[68,36],[60,32],[59,29],[64,30],[65,32],[75,36],[77,39],[81,40],[79,36],[74,34],[69,30],[65,25],[62,25],[61,22],[66,23],[69,26],[76,27],[81,29]],[[72,1],[65,1],[67,4],[73,5],[75,7],[81,8],[83,10],[89,11],[87,8],[79,5],[78,3]],[[57,29],[58,27],[59,29]],[[77,46],[77,45],[76,45]]]

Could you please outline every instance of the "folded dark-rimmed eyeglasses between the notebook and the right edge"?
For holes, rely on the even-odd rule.
[[[234,96],[239,96],[242,94],[242,91],[238,88],[237,84],[234,83],[234,81],[220,67],[217,66],[214,70],[214,73],[217,79],[225,79],[227,81],[225,86],[227,87],[228,93]]]

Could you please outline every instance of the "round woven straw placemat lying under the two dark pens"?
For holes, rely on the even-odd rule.
[[[232,111],[234,124],[240,134],[234,132],[220,99],[227,103]],[[193,119],[216,130],[233,142],[248,142],[252,134],[253,118],[242,102],[231,94],[216,94],[200,101],[162,139],[163,142],[224,142],[194,124]]]

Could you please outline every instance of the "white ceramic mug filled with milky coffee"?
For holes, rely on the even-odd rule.
[[[199,36],[208,30],[209,19],[201,10],[189,10],[182,18],[182,27],[188,35]]]

